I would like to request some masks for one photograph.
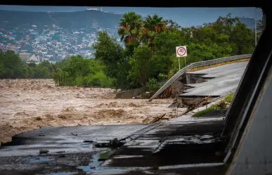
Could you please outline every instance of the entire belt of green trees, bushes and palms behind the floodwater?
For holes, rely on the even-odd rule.
[[[157,15],[143,19],[128,12],[119,22],[118,33],[124,47],[107,32],[99,32],[98,42],[93,45],[94,59],[72,56],[56,63],[57,70],[48,62],[23,64],[12,51],[1,53],[0,77],[53,77],[59,86],[133,89],[149,81],[164,81],[177,72],[176,46],[187,46],[187,64],[254,50],[254,32],[238,18],[231,18],[231,14],[200,28],[183,28]],[[181,67],[184,66],[181,61]]]

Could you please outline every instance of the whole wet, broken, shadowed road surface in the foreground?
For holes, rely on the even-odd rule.
[[[0,174],[221,174],[223,125],[222,117],[183,116],[155,124],[45,127],[1,146]],[[116,139],[124,144],[112,148]]]

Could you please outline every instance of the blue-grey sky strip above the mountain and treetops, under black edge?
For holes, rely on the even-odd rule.
[[[73,7],[73,6],[6,6],[0,5],[0,10],[8,11],[40,11],[40,12],[72,12],[84,11],[86,8],[101,7]],[[179,23],[181,26],[202,25],[204,22],[214,22],[219,16],[226,16],[231,13],[233,17],[239,18],[262,18],[260,8],[143,8],[143,7],[103,7],[105,12],[126,13],[135,11],[143,15],[160,15],[164,19],[171,19]],[[255,11],[256,14],[255,15]]]

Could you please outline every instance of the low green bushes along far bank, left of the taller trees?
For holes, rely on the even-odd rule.
[[[23,63],[13,51],[0,50],[1,79],[56,79],[59,86],[112,86],[112,79],[104,73],[104,65],[98,60],[72,56],[52,65],[48,61]],[[56,69],[56,70],[55,70]]]

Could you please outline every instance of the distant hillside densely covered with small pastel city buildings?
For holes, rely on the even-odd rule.
[[[29,29],[15,28],[12,30],[4,30],[0,27],[0,48],[3,51],[15,51],[22,60],[37,62],[42,59],[59,61],[74,55],[93,58],[92,46],[97,41],[98,31],[106,31],[111,36],[119,37],[117,30],[118,27],[101,28],[98,26],[91,30],[86,28],[67,30],[56,24],[51,26],[30,25]]]

